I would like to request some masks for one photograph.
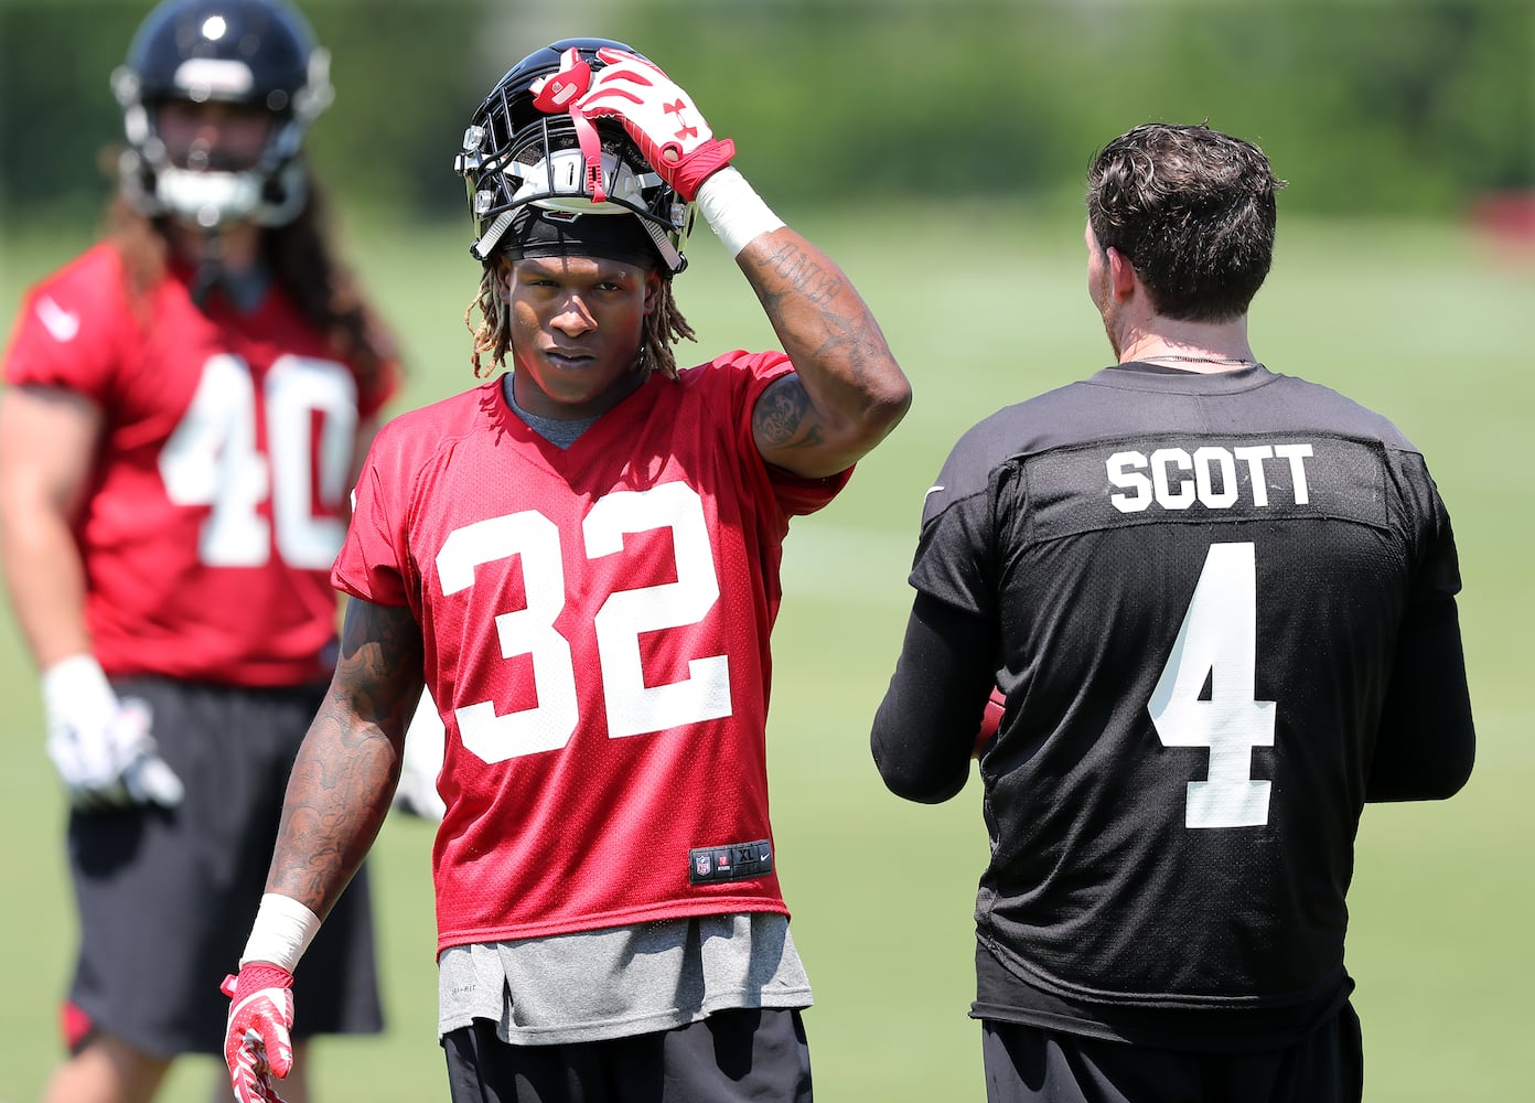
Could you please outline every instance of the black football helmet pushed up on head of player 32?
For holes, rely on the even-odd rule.
[[[533,84],[560,72],[566,51],[596,72],[606,66],[597,57],[603,46],[637,54],[608,38],[562,38],[517,61],[474,112],[453,167],[464,177],[474,220],[470,253],[482,263],[496,253],[516,210],[533,203],[571,218],[635,215],[668,275],[688,266],[683,246],[694,207],[651,169],[623,124],[589,120],[600,140],[597,167],[588,163],[571,115],[534,106]]]

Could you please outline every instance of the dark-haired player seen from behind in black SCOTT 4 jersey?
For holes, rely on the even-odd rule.
[[[1108,143],[1087,283],[1116,363],[979,422],[926,498],[872,747],[919,802],[979,756],[993,1103],[1358,1100],[1360,813],[1471,773],[1423,455],[1248,344],[1282,186],[1208,126]]]

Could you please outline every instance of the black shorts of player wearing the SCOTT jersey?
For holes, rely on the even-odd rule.
[[[1191,1052],[1104,1042],[987,1019],[987,1103],[1358,1103],[1365,1058],[1348,1003],[1300,1042]]]

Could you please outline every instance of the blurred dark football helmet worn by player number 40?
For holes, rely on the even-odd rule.
[[[112,91],[127,137],[123,194],[140,210],[206,229],[298,217],[304,132],[332,100],[330,54],[286,0],[164,0],[140,25]],[[166,100],[264,108],[273,115],[266,149],[241,171],[175,164],[155,129]]]

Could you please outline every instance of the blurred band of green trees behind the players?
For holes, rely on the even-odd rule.
[[[457,217],[470,112],[528,51],[622,38],[735,137],[775,203],[1076,201],[1147,120],[1259,141],[1291,210],[1448,215],[1535,187],[1530,0],[309,0],[338,95],[315,160],[342,194]],[[95,209],[107,74],[147,3],[0,0],[0,214]]]

